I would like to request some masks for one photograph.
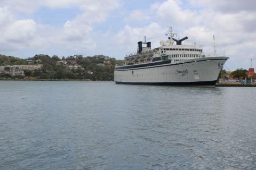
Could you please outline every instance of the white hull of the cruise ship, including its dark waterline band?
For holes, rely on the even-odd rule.
[[[151,84],[171,86],[215,86],[228,57],[206,57],[129,69],[115,69],[117,84]]]

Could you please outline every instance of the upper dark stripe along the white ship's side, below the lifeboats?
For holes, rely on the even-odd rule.
[[[227,60],[227,59],[212,59],[212,60]],[[212,61],[210,60],[210,61]],[[208,61],[208,60],[199,60],[199,61],[196,61],[196,62],[204,62],[204,61]],[[123,66],[123,67],[127,67],[128,69],[115,69],[115,71],[124,71],[124,70],[140,70],[140,69],[149,69],[149,68],[155,68],[155,67],[162,67],[162,66],[173,66],[173,65],[180,65],[180,64],[187,64],[187,63],[195,63],[195,61],[190,61],[190,62],[182,62],[182,63],[175,63],[175,64],[163,64],[162,62],[158,62],[158,63],[154,63],[156,66],[153,66],[153,65],[149,65],[149,64],[141,64],[141,65],[136,65],[136,66],[139,66],[137,68],[132,68],[133,65],[131,66]],[[129,67],[131,67],[129,69]],[[147,67],[147,68],[145,68]]]

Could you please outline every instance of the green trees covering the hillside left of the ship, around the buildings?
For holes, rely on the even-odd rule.
[[[27,60],[33,60],[33,63],[28,63]],[[79,80],[99,80],[99,81],[111,81],[114,80],[114,67],[116,64],[123,64],[122,60],[116,60],[105,55],[95,55],[83,57],[82,55],[62,57],[61,59],[54,55],[35,55],[34,57],[21,59],[12,56],[0,55],[0,66],[6,65],[33,65],[38,64],[37,60],[41,60],[39,64],[42,64],[42,69],[35,71],[25,70],[26,77],[34,77],[37,79],[79,79]],[[68,66],[57,65],[57,61],[76,61],[81,68],[76,70],[70,70]],[[103,64],[108,61],[105,66],[97,64]],[[70,64],[71,65],[71,64]],[[3,75],[2,75],[3,76]],[[6,76],[6,74],[4,75]],[[1,75],[0,75],[1,77]]]

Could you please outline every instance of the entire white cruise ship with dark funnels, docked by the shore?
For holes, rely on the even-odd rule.
[[[145,84],[169,86],[214,87],[223,64],[229,57],[205,57],[202,46],[183,45],[188,37],[175,39],[169,28],[168,39],[160,47],[151,49],[151,42],[138,42],[137,53],[125,57],[122,66],[116,66],[117,84]]]

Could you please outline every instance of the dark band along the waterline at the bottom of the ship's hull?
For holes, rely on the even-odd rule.
[[[196,82],[121,82],[116,84],[135,84],[135,85],[158,85],[158,86],[215,86],[215,81],[196,81]]]

